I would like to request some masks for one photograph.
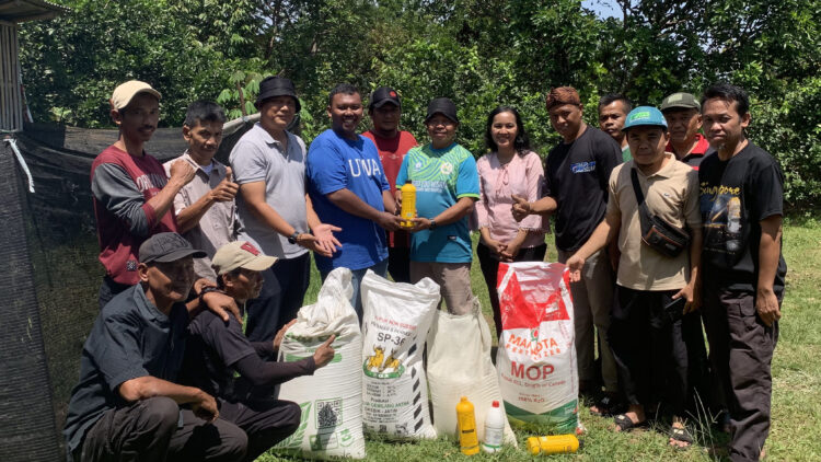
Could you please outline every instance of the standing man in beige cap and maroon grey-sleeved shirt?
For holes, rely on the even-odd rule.
[[[94,159],[91,190],[105,278],[102,309],[139,280],[137,250],[159,232],[176,232],[174,196],[194,177],[186,162],[175,162],[166,178],[162,164],[143,151],[160,118],[160,93],[131,80],[114,90],[111,116],[119,138]],[[171,213],[169,213],[171,211]]]

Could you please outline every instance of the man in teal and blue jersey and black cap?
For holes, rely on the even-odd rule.
[[[410,229],[410,281],[425,277],[441,288],[448,311],[470,313],[471,233],[467,216],[478,200],[478,173],[470,151],[453,140],[459,128],[456,106],[447,97],[428,104],[425,118],[430,143],[408,151],[396,184],[416,187],[415,227]]]

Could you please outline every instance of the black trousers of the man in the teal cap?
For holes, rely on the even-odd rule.
[[[644,291],[616,285],[608,339],[618,381],[629,404],[650,408],[663,404],[684,416],[687,391],[687,349],[681,320],[664,311],[678,290]]]

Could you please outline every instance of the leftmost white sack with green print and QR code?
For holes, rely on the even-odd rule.
[[[313,356],[332,334],[334,359],[313,376],[285,382],[280,400],[302,408],[297,431],[274,447],[280,453],[307,459],[365,459],[362,436],[362,336],[350,297],[350,269],[336,268],[327,275],[316,303],[302,307],[279,347],[280,361]]]

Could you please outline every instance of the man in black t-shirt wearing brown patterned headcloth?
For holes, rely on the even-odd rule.
[[[546,106],[551,124],[562,135],[563,141],[545,160],[544,197],[528,203],[513,196],[512,211],[517,220],[531,213],[555,215],[558,259],[565,263],[604,219],[608,181],[613,168],[622,163],[622,149],[612,137],[581,119],[581,100],[575,89],[560,86],[551,90]],[[594,334],[595,330],[599,331],[605,399],[591,408],[597,414],[612,412],[613,399],[618,392],[615,361],[606,338],[614,284],[606,251],[600,251],[585,263],[581,280],[570,285],[582,392],[590,392],[595,381]]]

